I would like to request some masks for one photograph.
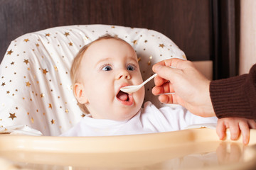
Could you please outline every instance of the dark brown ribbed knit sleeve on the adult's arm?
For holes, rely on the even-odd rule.
[[[218,118],[256,119],[256,64],[249,74],[211,81],[210,98]]]

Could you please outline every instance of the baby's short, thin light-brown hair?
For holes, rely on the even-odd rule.
[[[117,35],[109,35],[109,34],[106,34],[106,35],[103,35],[102,37],[98,38],[97,40],[94,40],[92,42],[90,42],[89,44],[83,46],[78,54],[75,56],[74,60],[73,60],[73,64],[71,66],[71,69],[70,69],[70,78],[71,78],[71,82],[72,82],[72,85],[74,87],[74,84],[78,82],[78,79],[79,79],[79,74],[78,74],[78,70],[80,68],[80,63],[82,61],[82,57],[83,55],[85,54],[85,51],[88,49],[88,47],[90,47],[90,45],[92,45],[94,42],[97,42],[99,40],[107,40],[107,39],[115,39],[115,40],[122,40],[121,38],[118,38]],[[124,40],[122,40],[123,42],[126,42]],[[127,42],[126,42],[127,43]],[[73,92],[74,92],[74,88],[73,88]],[[90,112],[88,111],[87,107],[85,106],[85,104],[82,104],[82,103],[79,103],[78,102],[78,106],[80,108],[80,110],[83,112],[83,113],[86,113],[86,114],[89,114]]]

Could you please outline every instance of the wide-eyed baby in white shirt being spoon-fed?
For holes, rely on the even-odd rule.
[[[87,115],[63,136],[132,135],[217,123],[215,117],[202,118],[181,106],[156,108],[148,101],[142,108],[144,87],[133,94],[120,91],[143,80],[136,52],[117,36],[105,35],[82,47],[73,61],[71,79],[78,105]]]

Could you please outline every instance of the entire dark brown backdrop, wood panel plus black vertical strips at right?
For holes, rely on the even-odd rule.
[[[0,61],[11,40],[55,26],[149,28],[188,60],[213,60],[213,78],[238,74],[239,0],[0,0]]]

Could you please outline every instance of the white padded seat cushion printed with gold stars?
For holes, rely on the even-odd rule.
[[[85,116],[73,96],[70,67],[80,48],[106,33],[118,35],[137,52],[143,79],[161,60],[184,53],[154,30],[87,25],[49,28],[11,42],[0,65],[0,128],[28,125],[43,135],[60,135]],[[161,106],[146,84],[145,101]],[[11,129],[11,128],[8,128]]]

